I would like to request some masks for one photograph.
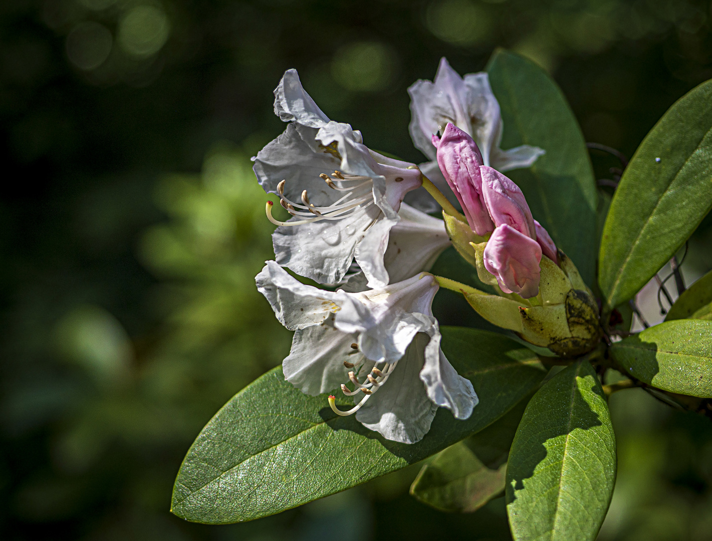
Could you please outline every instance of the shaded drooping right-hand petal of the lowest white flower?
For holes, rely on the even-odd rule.
[[[435,404],[452,411],[456,419],[467,419],[479,401],[472,382],[460,376],[445,357],[440,348],[441,335],[437,322],[434,322],[429,335],[420,379]]]

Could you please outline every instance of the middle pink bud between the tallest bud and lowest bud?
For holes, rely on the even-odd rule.
[[[480,174],[483,199],[495,226],[506,224],[536,239],[534,219],[519,187],[491,167],[481,166]]]

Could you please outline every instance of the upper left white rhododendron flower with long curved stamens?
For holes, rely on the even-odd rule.
[[[421,186],[414,164],[365,147],[361,133],[334,122],[305,92],[295,70],[275,90],[275,113],[290,122],[253,158],[267,192],[292,214],[273,234],[276,260],[318,283],[340,283],[355,259],[370,287],[389,281],[389,232],[405,194]]]

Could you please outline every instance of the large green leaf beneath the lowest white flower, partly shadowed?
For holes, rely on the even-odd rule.
[[[422,441],[388,441],[353,416],[334,414],[327,395],[295,389],[276,368],[236,394],[201,431],[178,473],[172,512],[211,524],[253,520],[360,485],[480,431],[545,375],[538,357],[507,337],[463,327],[442,332],[445,354],[480,399],[470,419],[439,409]]]

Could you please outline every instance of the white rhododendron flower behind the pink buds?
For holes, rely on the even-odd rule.
[[[408,88],[411,97],[410,135],[414,145],[431,161],[422,172],[445,193],[447,184],[435,162],[436,148],[431,137],[443,133],[448,122],[470,135],[482,152],[483,162],[500,172],[530,167],[545,153],[539,147],[521,145],[502,150],[502,116],[486,72],[468,73],[462,78],[442,58],[435,79],[417,80]],[[409,196],[417,208],[431,212],[434,201],[423,191]]]

